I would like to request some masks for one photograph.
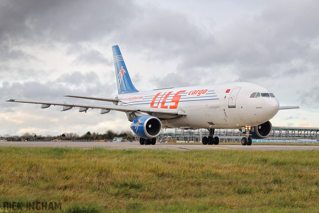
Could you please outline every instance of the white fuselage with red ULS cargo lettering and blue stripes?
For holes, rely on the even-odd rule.
[[[118,105],[185,112],[179,118],[163,119],[163,128],[241,128],[257,126],[276,115],[279,103],[275,97],[253,97],[253,93],[271,93],[263,86],[233,82],[195,87],[159,89],[116,95]],[[160,116],[156,116],[161,118]]]

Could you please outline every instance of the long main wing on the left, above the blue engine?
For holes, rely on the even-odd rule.
[[[184,111],[177,109],[157,109],[151,107],[136,107],[136,106],[118,106],[118,105],[107,105],[107,104],[92,104],[92,103],[74,103],[64,101],[36,101],[36,100],[23,100],[23,99],[9,99],[7,102],[18,102],[18,103],[35,103],[42,104],[41,108],[45,109],[54,106],[62,106],[61,111],[70,110],[73,107],[79,107],[79,112],[86,111],[88,109],[101,109],[101,114],[109,112],[108,110],[116,110],[121,112],[144,112],[147,114],[153,114],[155,117],[169,118],[170,116],[181,116],[186,115]],[[158,115],[158,116],[156,116]]]

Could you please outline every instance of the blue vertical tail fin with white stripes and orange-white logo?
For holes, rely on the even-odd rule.
[[[119,46],[112,46],[113,60],[115,66],[115,75],[117,80],[117,90],[119,94],[138,92],[132,84],[129,72],[125,66]]]

